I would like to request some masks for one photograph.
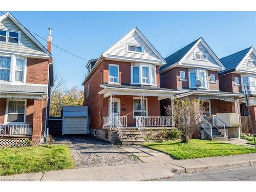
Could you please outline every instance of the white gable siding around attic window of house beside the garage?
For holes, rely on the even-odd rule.
[[[126,52],[126,44],[142,46],[144,49],[144,54]],[[122,41],[119,41],[114,47],[110,48],[108,56],[126,57],[131,59],[145,59],[145,61],[161,61],[161,59],[158,58],[158,56],[151,50],[151,48],[146,45],[144,40],[137,34],[136,31],[127,36]]]

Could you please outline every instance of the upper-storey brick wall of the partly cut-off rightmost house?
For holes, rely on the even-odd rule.
[[[240,74],[229,73],[229,74],[226,74],[226,75],[219,76],[220,91],[241,92],[242,87],[234,85],[234,77],[238,77],[239,78],[239,83],[241,84]]]

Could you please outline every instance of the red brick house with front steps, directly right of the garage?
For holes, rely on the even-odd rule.
[[[143,139],[145,127],[172,127],[170,117],[161,117],[160,100],[173,97],[177,90],[160,88],[159,68],[163,65],[163,57],[138,28],[90,60],[82,83],[90,133],[114,140],[117,130],[123,144],[133,144]],[[128,131],[134,133],[129,140]]]

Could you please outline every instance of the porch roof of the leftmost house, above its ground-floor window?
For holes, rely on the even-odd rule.
[[[46,99],[47,86],[31,86],[24,85],[0,85],[0,98],[15,98],[15,99]]]

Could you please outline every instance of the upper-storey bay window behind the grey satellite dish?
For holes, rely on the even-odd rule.
[[[200,80],[202,86],[200,88],[207,89],[207,70],[200,68],[191,68],[188,69],[188,78],[189,78],[189,88],[197,88],[196,81]]]

